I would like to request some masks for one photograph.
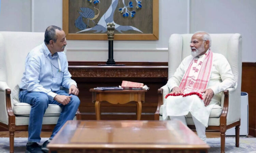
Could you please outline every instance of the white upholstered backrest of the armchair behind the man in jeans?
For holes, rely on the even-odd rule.
[[[0,81],[5,81],[11,88],[19,84],[25,71],[27,54],[44,42],[44,33],[36,32],[0,32]]]

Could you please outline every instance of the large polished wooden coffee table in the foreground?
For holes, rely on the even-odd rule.
[[[56,152],[208,152],[210,148],[180,121],[69,120],[47,146]]]

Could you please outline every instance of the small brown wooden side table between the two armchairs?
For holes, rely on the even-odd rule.
[[[93,93],[93,101],[95,102],[95,113],[96,119],[100,120],[100,103],[102,101],[107,101],[112,104],[125,104],[131,101],[136,102],[137,106],[137,120],[141,119],[141,102],[145,101],[145,92],[147,90],[96,90],[90,89],[90,92]]]

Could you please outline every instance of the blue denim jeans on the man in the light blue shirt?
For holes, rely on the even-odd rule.
[[[55,93],[58,95],[69,96],[69,94],[64,90],[58,90]],[[28,125],[28,142],[40,142],[43,116],[45,110],[48,107],[48,104],[57,104],[62,108],[58,122],[50,139],[52,139],[57,134],[57,132],[67,120],[72,120],[74,118],[75,113],[79,107],[80,100],[76,95],[71,94],[71,96],[71,101],[67,105],[62,105],[56,100],[48,100],[48,96],[45,93],[28,92],[27,90],[22,90],[19,92],[20,102],[26,102],[31,105]]]

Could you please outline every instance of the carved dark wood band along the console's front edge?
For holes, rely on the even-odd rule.
[[[69,69],[72,77],[168,77],[165,70],[153,69]]]

